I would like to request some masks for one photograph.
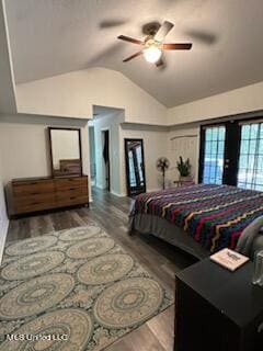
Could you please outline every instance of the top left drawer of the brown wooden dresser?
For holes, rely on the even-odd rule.
[[[54,193],[55,190],[53,180],[13,182],[12,188],[14,197]]]

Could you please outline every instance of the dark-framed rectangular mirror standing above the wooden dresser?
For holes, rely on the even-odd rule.
[[[82,176],[80,129],[49,127],[53,177]]]

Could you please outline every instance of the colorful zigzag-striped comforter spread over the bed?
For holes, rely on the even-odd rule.
[[[236,248],[243,229],[263,214],[263,193],[228,185],[182,186],[138,195],[134,214],[165,218],[215,252]]]

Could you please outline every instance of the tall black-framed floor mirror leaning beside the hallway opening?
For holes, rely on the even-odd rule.
[[[125,139],[125,161],[128,196],[146,192],[142,139]]]

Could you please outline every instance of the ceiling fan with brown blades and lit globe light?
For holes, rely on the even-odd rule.
[[[119,35],[117,38],[121,41],[138,44],[141,49],[134,55],[125,58],[123,61],[127,63],[133,58],[144,55],[145,59],[150,64],[156,64],[157,67],[163,65],[161,58],[163,50],[188,50],[192,48],[192,43],[163,43],[165,36],[173,29],[174,24],[164,21],[163,24],[158,26],[150,26],[147,31],[147,36],[144,39],[137,39],[126,35]]]

